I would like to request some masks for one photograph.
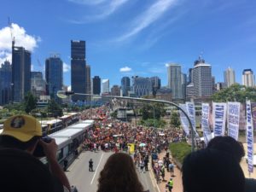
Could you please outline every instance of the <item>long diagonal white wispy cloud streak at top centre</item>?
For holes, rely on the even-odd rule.
[[[138,32],[141,32],[144,28],[150,26],[154,21],[160,19],[166,11],[177,3],[177,0],[160,0],[151,5],[143,14],[139,15],[132,22],[132,27],[124,35],[119,37],[117,41],[124,41],[127,38],[131,38]]]

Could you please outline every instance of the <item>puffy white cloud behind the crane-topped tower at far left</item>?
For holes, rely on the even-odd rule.
[[[38,42],[41,41],[40,37],[28,35],[26,30],[18,24],[12,23],[11,30],[9,26],[3,27],[0,29],[0,63],[6,59],[11,61],[11,32],[15,37],[15,46],[21,46],[30,51],[37,48]]]

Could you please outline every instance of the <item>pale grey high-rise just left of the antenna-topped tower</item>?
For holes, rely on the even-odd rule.
[[[181,66],[178,64],[169,64],[167,67],[168,88],[172,89],[172,99],[182,99],[182,73]]]

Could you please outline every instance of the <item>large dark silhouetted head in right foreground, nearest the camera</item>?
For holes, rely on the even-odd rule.
[[[245,177],[234,158],[222,151],[205,148],[183,160],[183,191],[243,192]]]

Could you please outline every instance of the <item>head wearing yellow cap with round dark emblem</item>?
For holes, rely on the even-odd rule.
[[[20,114],[6,119],[0,135],[0,147],[19,148],[33,152],[42,137],[42,128],[37,119]]]

